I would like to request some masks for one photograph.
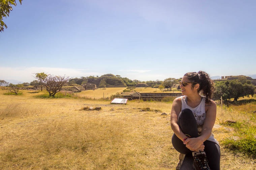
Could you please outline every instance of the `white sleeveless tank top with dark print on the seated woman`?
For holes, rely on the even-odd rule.
[[[181,96],[181,110],[183,109],[190,109],[192,111],[196,119],[198,135],[201,135],[202,126],[205,120],[205,97],[201,98],[201,102],[198,106],[192,108],[187,104],[187,96],[185,96],[185,99]],[[213,133],[211,133],[211,136],[207,140],[213,141],[219,145],[218,141],[214,138]]]

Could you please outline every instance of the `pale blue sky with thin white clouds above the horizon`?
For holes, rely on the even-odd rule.
[[[256,74],[255,16],[255,0],[23,0],[4,18],[0,79]]]

